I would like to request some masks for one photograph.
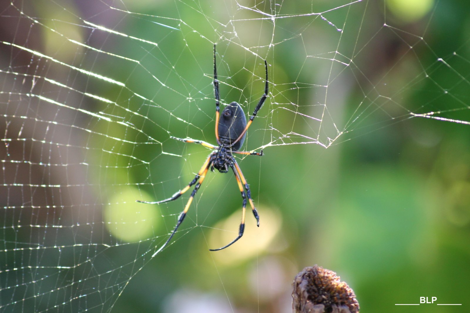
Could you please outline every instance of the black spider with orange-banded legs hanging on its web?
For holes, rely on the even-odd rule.
[[[186,206],[184,207],[183,212],[181,212],[178,217],[178,221],[170,237],[157,250],[157,252],[154,253],[154,256],[158,252],[162,251],[162,249],[170,242],[173,235],[176,233],[178,227],[183,222],[186,216],[186,213],[188,212],[189,206],[191,205],[191,202],[193,201],[193,198],[196,195],[196,192],[199,190],[199,187],[203,183],[204,178],[209,168],[211,168],[212,172],[214,171],[214,168],[215,168],[220,173],[227,173],[228,168],[229,167],[232,168],[232,171],[234,172],[236,181],[238,183],[238,188],[240,189],[240,192],[242,193],[242,198],[243,198],[242,221],[238,229],[238,236],[232,242],[230,242],[229,244],[226,244],[225,246],[221,248],[209,249],[209,250],[219,251],[219,250],[225,249],[229,247],[230,245],[234,244],[238,239],[240,239],[243,236],[243,231],[245,230],[245,209],[246,209],[247,198],[248,198],[248,201],[250,202],[253,215],[256,218],[256,224],[259,227],[258,210],[254,206],[253,200],[251,199],[250,187],[248,186],[248,183],[246,182],[246,179],[243,176],[242,170],[238,166],[238,163],[235,160],[235,157],[233,156],[233,154],[237,153],[237,154],[245,154],[245,155],[247,154],[259,155],[259,156],[263,155],[263,150],[261,150],[260,153],[257,153],[254,151],[238,151],[238,150],[243,145],[243,141],[245,140],[245,137],[246,137],[246,131],[248,130],[254,118],[258,114],[258,110],[263,106],[263,103],[265,102],[267,95],[268,95],[269,81],[267,77],[267,62],[266,60],[264,61],[265,68],[266,68],[265,92],[263,96],[261,97],[261,99],[259,100],[258,105],[255,107],[255,110],[253,111],[253,115],[251,115],[250,120],[247,123],[245,113],[243,112],[242,107],[235,101],[226,105],[220,116],[219,81],[217,80],[217,65],[216,65],[215,53],[216,51],[215,51],[215,45],[214,45],[214,81],[213,81],[213,84],[214,84],[214,93],[215,93],[215,138],[217,139],[217,145],[211,145],[202,140],[195,140],[191,138],[182,139],[182,138],[171,136],[172,139],[180,140],[180,141],[187,142],[187,143],[195,143],[195,144],[203,145],[204,147],[213,149],[213,151],[211,152],[211,154],[209,154],[209,157],[205,160],[202,168],[196,174],[196,177],[194,177],[194,179],[185,188],[183,188],[180,191],[177,191],[170,198],[160,200],[160,201],[155,201],[155,202],[136,200],[137,202],[147,203],[147,204],[160,204],[160,203],[173,201],[179,198],[183,193],[188,191],[188,189],[191,188],[192,185],[196,184],[193,192],[191,193],[191,196],[188,199]],[[246,190],[246,193],[245,193],[245,190]]]

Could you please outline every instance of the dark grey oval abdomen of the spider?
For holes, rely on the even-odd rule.
[[[235,101],[227,104],[219,119],[219,140],[222,145],[231,145],[243,133],[246,127],[246,116],[243,108]],[[243,145],[246,132],[233,146],[232,150],[237,151]]]

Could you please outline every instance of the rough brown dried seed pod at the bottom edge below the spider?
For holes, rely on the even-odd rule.
[[[305,267],[294,278],[293,313],[359,313],[354,291],[335,272]]]

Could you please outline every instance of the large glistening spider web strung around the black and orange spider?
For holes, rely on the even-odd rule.
[[[170,197],[209,153],[170,136],[215,143],[213,44],[222,103],[246,114],[269,66],[245,150],[328,148],[409,119],[467,127],[469,40],[432,42],[445,27],[433,25],[440,6],[409,26],[366,0],[4,1],[1,311],[109,312],[152,260],[187,197],[135,200]],[[238,213],[214,226],[234,188],[217,176],[174,242],[196,228],[235,237]],[[207,246],[225,244],[204,234]]]

